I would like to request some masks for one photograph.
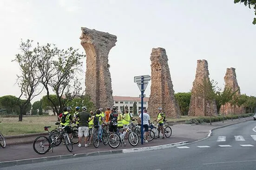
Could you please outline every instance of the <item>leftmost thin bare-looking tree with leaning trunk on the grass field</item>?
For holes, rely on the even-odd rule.
[[[27,40],[20,43],[20,53],[16,54],[15,61],[20,66],[21,74],[17,75],[17,84],[20,87],[20,96],[18,98],[18,105],[20,106],[19,121],[22,121],[26,109],[30,101],[38,96],[43,88],[40,86],[41,75],[38,72],[38,58],[35,49],[32,49],[33,40]],[[20,100],[22,97],[26,99]]]

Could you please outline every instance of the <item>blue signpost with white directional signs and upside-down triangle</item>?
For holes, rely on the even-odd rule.
[[[134,83],[137,83],[138,88],[141,92],[141,144],[143,144],[143,98],[144,91],[147,88],[148,82],[151,80],[150,75],[135,76]]]

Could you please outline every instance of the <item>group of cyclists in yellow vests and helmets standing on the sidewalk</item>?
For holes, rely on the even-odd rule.
[[[109,133],[117,132],[118,129],[124,130],[128,124],[130,124],[131,120],[135,120],[133,118],[133,115],[131,112],[128,110],[125,110],[125,113],[122,114],[121,111],[117,111],[117,108],[115,106],[112,107],[107,107],[106,111],[103,111],[103,108],[97,109],[95,112],[87,111],[86,106],[82,106],[80,111],[80,107],[77,106],[75,107],[75,112],[73,115],[71,114],[72,108],[71,107],[64,107],[63,113],[58,116],[60,120],[60,124],[62,127],[65,125],[69,125],[69,128],[66,128],[67,133],[72,133],[72,128],[71,124],[75,123],[78,126],[78,137],[79,137],[79,144],[78,147],[81,147],[82,144],[82,137],[84,138],[85,142],[85,147],[88,147],[87,141],[88,141],[88,136],[89,134],[93,136],[93,134],[97,133],[98,136],[102,136],[102,128],[106,128],[108,125],[108,128],[106,131]],[[144,109],[144,121],[148,120],[148,123],[145,123],[143,128],[145,131],[148,131],[148,126],[150,123],[150,118],[148,116],[145,117],[147,114],[146,109]],[[141,110],[139,110],[139,118],[136,119],[138,121],[138,124],[141,124],[141,118],[140,118]],[[164,139],[164,120],[165,120],[165,115],[162,112],[162,108],[158,108],[158,117],[154,120],[158,123],[158,138],[160,131],[163,134],[163,139]],[[89,139],[89,145],[92,144],[92,139],[91,137]],[[101,138],[100,138],[101,139]],[[145,143],[147,143],[147,140],[145,140]]]

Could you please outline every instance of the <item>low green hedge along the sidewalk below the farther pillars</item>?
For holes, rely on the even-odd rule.
[[[233,119],[236,118],[246,118],[246,117],[250,117],[253,116],[253,113],[246,113],[246,114],[242,114],[242,115],[233,115]],[[211,117],[211,122],[219,122],[222,121],[223,116],[216,116],[216,117]],[[232,119],[231,115],[226,115],[223,118],[224,120],[227,119]],[[189,120],[185,121],[185,124],[201,124],[201,123],[210,123],[210,117],[202,117],[202,118],[192,118]]]

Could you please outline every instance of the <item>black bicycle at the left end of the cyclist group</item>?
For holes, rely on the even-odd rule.
[[[68,125],[66,125],[64,127],[58,127],[59,131],[53,132],[53,133],[51,133],[49,131],[50,127],[51,126],[44,126],[45,131],[49,132],[49,137],[45,137],[45,136],[37,137],[33,142],[33,150],[38,154],[45,154],[51,148],[53,149],[55,146],[57,146],[56,144],[58,144],[59,141],[61,142],[60,139],[64,138],[64,143],[66,145],[67,150],[72,152],[73,151],[73,143],[71,142],[71,140],[66,132],[66,128],[68,127]],[[36,149],[36,146],[39,146],[39,149],[41,149],[42,151],[39,151],[39,149]],[[45,146],[46,146],[46,148],[45,148]],[[53,150],[52,150],[52,152],[53,152]]]

